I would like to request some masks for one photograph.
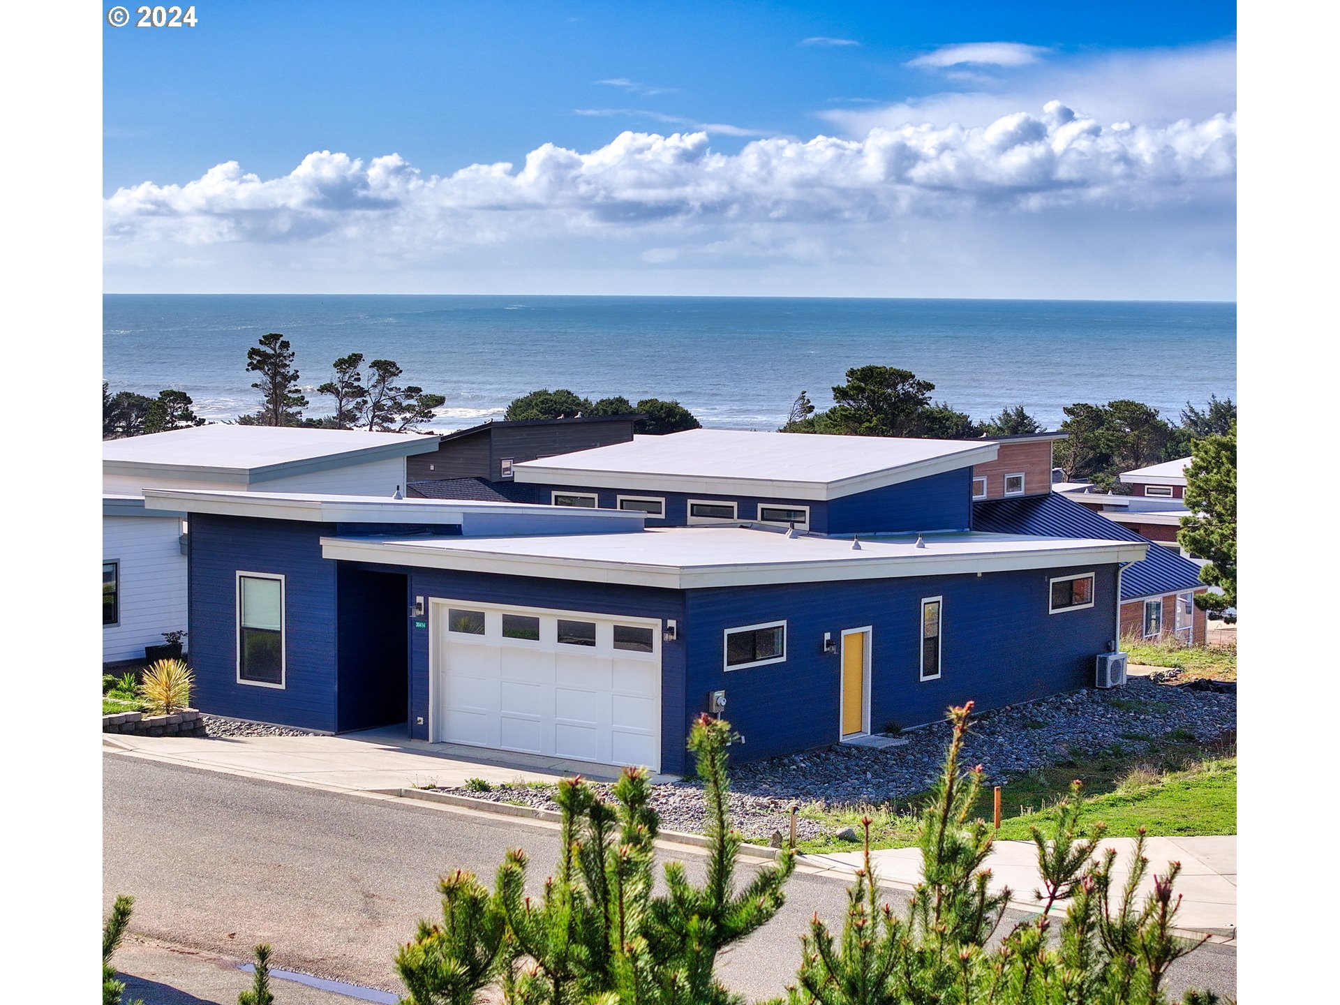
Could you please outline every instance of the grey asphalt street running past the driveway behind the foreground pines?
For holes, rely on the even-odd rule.
[[[403,992],[391,961],[419,918],[438,917],[437,876],[468,868],[492,886],[516,846],[537,891],[557,856],[552,827],[103,757],[105,909],[131,894],[137,935],[229,958],[269,942],[273,966]],[[666,856],[701,878],[699,855]],[[898,910],[903,895],[887,895]],[[722,954],[722,980],[749,1000],[780,994],[811,915],[836,922],[844,903],[843,883],[795,875],[779,915]],[[1235,963],[1234,949],[1203,946],[1177,965],[1168,992],[1231,998]]]

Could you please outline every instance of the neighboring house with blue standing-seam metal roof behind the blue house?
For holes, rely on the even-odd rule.
[[[1175,636],[1187,645],[1205,642],[1205,611],[1191,599],[1207,590],[1201,567],[1174,548],[1108,520],[1065,494],[998,498],[973,504],[973,527],[994,533],[1118,537],[1152,544],[1140,561],[1122,570],[1122,635]]]

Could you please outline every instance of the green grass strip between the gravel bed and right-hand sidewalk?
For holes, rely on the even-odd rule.
[[[1103,820],[1111,838],[1134,838],[1138,827],[1151,836],[1237,833],[1235,752],[1231,746],[1202,746],[1174,733],[1156,741],[1154,750],[1115,746],[1010,779],[1001,788],[1000,838],[1026,840],[1029,825],[1044,824],[1047,808],[1069,791],[1075,779],[1084,783],[1083,819]],[[862,816],[870,816],[871,847],[904,848],[917,842],[915,809],[925,800],[922,795],[892,808],[811,804],[800,812],[833,831],[852,827],[858,833]],[[992,819],[992,789],[984,788],[977,804],[984,820]],[[859,844],[823,838],[799,847],[803,852],[827,852],[852,851]]]

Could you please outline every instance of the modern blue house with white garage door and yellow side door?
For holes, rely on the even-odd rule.
[[[1093,683],[1148,545],[970,529],[994,452],[694,430],[519,464],[529,504],[145,505],[190,515],[206,712],[681,773],[705,710],[754,758]]]

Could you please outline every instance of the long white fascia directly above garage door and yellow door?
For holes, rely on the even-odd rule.
[[[375,539],[322,537],[322,556],[382,565],[414,565],[462,572],[494,572],[512,576],[539,576],[583,583],[619,583],[702,590],[708,587],[766,586],[775,583],[833,583],[907,576],[951,576],[973,572],[1008,572],[1063,565],[1115,564],[1139,561],[1148,544],[1112,541],[1045,551],[988,552],[969,555],[927,555],[828,561],[667,565],[556,556],[456,549],[441,544],[385,541]]]

